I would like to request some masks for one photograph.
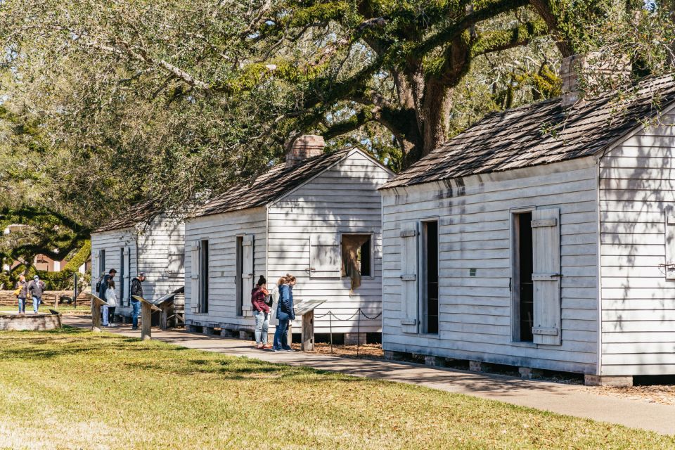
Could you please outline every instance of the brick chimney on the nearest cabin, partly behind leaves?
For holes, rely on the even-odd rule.
[[[599,52],[587,55],[572,55],[563,58],[560,66],[560,78],[563,79],[563,108],[568,108],[581,100],[584,89],[581,77],[584,76],[584,89],[602,91],[612,89],[629,81],[631,62],[624,58],[603,60]]]

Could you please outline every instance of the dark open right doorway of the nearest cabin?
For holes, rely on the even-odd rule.
[[[534,285],[532,283],[532,212],[513,214],[513,340],[532,342]]]

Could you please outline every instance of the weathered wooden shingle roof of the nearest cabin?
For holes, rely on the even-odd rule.
[[[675,101],[672,75],[645,79],[563,108],[560,98],[492,113],[404,170],[382,189],[595,155]]]

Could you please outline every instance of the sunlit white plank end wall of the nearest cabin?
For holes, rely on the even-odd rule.
[[[660,267],[675,206],[673,123],[664,115],[600,160],[602,375],[675,374],[675,280]]]

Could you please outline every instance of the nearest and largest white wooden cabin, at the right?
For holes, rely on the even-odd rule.
[[[494,113],[386,184],[385,355],[674,375],[674,101],[669,76]]]

